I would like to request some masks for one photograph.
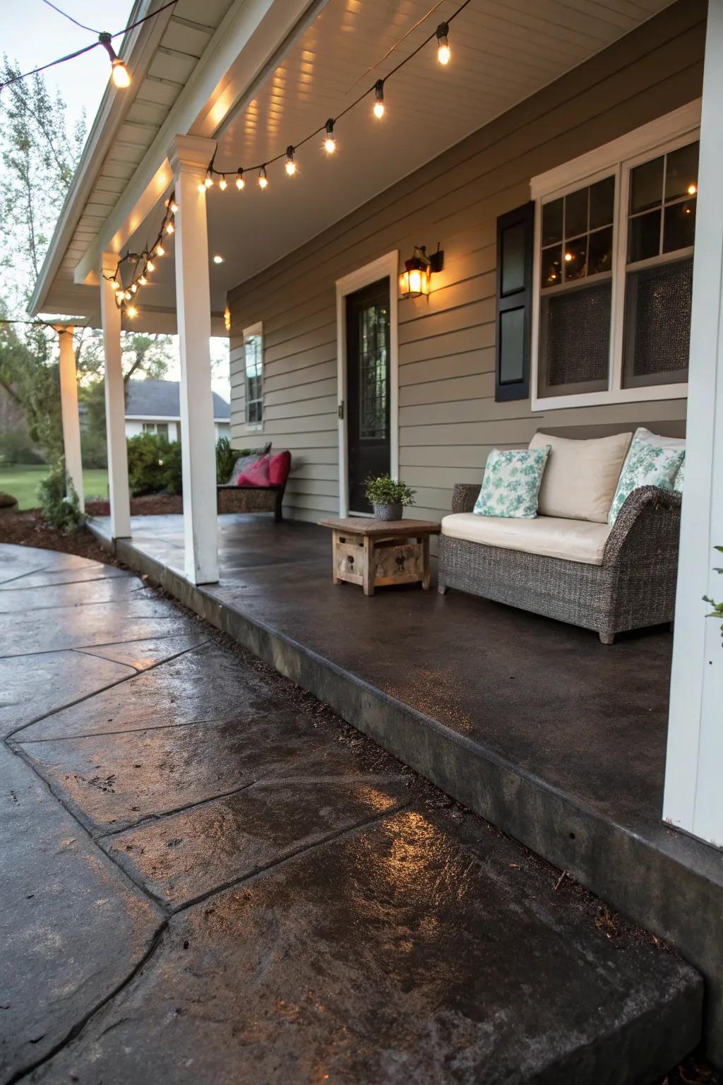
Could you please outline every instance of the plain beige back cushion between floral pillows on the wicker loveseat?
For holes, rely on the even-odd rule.
[[[607,523],[632,434],[571,441],[535,433],[530,448],[551,445],[542,476],[538,515]]]

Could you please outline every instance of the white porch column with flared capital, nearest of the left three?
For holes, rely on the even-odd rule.
[[[211,398],[210,285],[206,190],[211,140],[177,136],[168,150],[176,180],[176,309],[181,355],[181,457],[185,575],[218,580],[216,434]]]

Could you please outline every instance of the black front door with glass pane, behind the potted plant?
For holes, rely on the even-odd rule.
[[[388,474],[389,280],[347,295],[347,443],[349,512],[371,512],[370,475]]]

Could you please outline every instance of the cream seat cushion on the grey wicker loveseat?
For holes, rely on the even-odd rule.
[[[442,520],[442,535],[468,542],[485,542],[506,550],[526,550],[545,558],[582,561],[602,565],[603,551],[611,528],[584,520],[537,516],[511,520],[507,516],[477,516],[474,512],[453,512]]]

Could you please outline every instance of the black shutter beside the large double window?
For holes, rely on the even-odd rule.
[[[494,398],[498,403],[530,395],[532,252],[534,203],[498,219],[498,307]]]

